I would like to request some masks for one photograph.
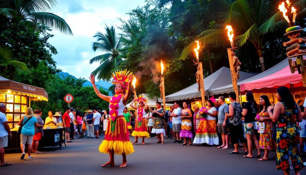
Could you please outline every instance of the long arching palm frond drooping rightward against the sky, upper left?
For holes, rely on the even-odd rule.
[[[32,12],[27,14],[28,17],[33,18],[35,21],[39,23],[43,23],[49,27],[59,30],[65,34],[73,35],[69,25],[66,21],[53,14],[48,12]]]

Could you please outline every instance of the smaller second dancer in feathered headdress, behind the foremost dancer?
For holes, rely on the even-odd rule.
[[[134,106],[134,102],[138,103],[138,107]],[[148,110],[149,105],[147,104],[148,98],[144,95],[138,95],[130,103],[130,106],[137,110],[137,119],[135,122],[135,131],[132,132],[132,136],[135,137],[135,142],[132,144],[138,143],[138,137],[142,137],[142,144],[144,145],[144,138],[149,138],[147,120],[146,120],[146,111]]]

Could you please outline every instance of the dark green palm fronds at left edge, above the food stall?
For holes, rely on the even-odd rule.
[[[25,72],[30,72],[27,65],[20,61],[12,60],[12,50],[10,50],[7,47],[0,47],[0,61],[2,66],[13,66],[13,67],[19,67],[20,69],[24,70]]]

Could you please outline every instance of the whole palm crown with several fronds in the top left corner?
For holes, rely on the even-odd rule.
[[[47,25],[65,34],[73,35],[66,21],[49,12],[57,4],[55,0],[0,0],[0,15],[32,22],[36,29],[38,23]]]

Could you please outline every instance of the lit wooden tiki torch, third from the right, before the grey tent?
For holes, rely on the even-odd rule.
[[[204,88],[204,77],[203,77],[203,66],[202,62],[199,62],[199,52],[200,52],[200,42],[195,41],[196,48],[193,49],[196,53],[196,63],[197,66],[197,72],[196,72],[196,82],[198,83],[198,91],[201,91],[201,97],[202,97],[202,106],[205,106],[205,88]]]

